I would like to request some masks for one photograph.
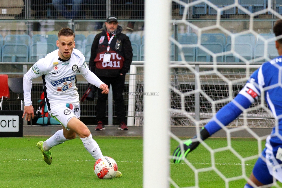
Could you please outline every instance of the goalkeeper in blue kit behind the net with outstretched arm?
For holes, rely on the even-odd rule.
[[[282,34],[282,20],[275,22],[273,27],[275,36]],[[282,182],[282,39],[275,41],[279,57],[262,64],[246,82],[244,88],[227,105],[221,108],[216,115],[200,131],[201,139],[205,140],[212,134],[227,126],[235,120],[244,109],[251,106],[255,100],[264,92],[265,100],[278,120],[278,129],[272,129],[271,134],[266,139],[265,148],[261,156],[257,159],[253,172],[244,188],[253,188],[251,184],[257,186],[273,183],[273,178]],[[197,136],[184,142],[184,151],[180,145],[173,152],[173,162],[179,163],[189,152],[192,152],[200,142]]]

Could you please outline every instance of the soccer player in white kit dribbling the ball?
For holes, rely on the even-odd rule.
[[[109,89],[94,73],[85,61],[84,55],[75,47],[75,34],[70,28],[62,28],[58,33],[57,47],[59,49],[47,54],[38,60],[23,77],[24,87],[24,113],[23,118],[30,121],[34,118],[34,108],[31,104],[32,79],[42,76],[44,97],[48,113],[59,121],[63,129],[58,130],[46,141],[37,143],[38,149],[43,153],[44,161],[50,165],[52,156],[50,149],[65,141],[75,139],[78,135],[86,150],[97,160],[102,157],[99,145],[92,138],[90,130],[79,120],[79,95],[76,87],[76,72],[91,84],[108,94]],[[118,171],[116,177],[122,174]]]

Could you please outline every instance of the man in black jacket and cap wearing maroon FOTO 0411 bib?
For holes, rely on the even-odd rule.
[[[98,78],[110,86],[112,84],[113,98],[120,130],[128,130],[125,118],[125,105],[123,89],[125,74],[132,61],[131,42],[125,34],[121,33],[122,27],[118,25],[116,16],[109,16],[105,22],[106,29],[97,34],[91,47],[89,60],[90,70]],[[106,101],[108,95],[98,91],[97,120],[95,130],[105,130]]]

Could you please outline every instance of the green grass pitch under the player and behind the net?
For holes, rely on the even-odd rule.
[[[123,173],[121,178],[100,180],[94,174],[95,160],[85,150],[77,137],[51,149],[53,162],[47,165],[36,148],[38,141],[48,137],[0,138],[0,187],[94,187],[138,188],[142,187],[142,138],[141,137],[93,137],[104,156],[111,156]],[[213,149],[227,146],[226,139],[207,139]],[[178,143],[171,140],[171,153]],[[264,143],[262,143],[264,148]],[[233,148],[243,157],[258,153],[257,140],[232,139]],[[202,145],[188,154],[194,167],[211,166],[210,153]],[[152,159],[156,160],[157,159]],[[215,154],[216,167],[226,177],[242,173],[241,162],[230,151]],[[256,160],[246,162],[249,175]],[[160,167],[161,168],[161,167]],[[179,187],[194,186],[194,172],[184,163],[170,163],[171,178]],[[156,174],[156,179],[161,180]],[[232,181],[229,187],[244,187],[245,180]],[[281,184],[279,183],[281,186]],[[225,187],[225,182],[214,171],[199,173],[199,186]],[[171,187],[173,187],[171,185]]]

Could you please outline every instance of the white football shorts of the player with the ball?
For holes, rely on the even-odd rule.
[[[79,119],[80,117],[79,104],[77,106],[74,106],[73,104],[53,104],[50,105],[50,108],[51,110],[48,111],[48,113],[51,117],[59,121],[66,129],[68,129],[67,124],[71,118],[76,117]]]

